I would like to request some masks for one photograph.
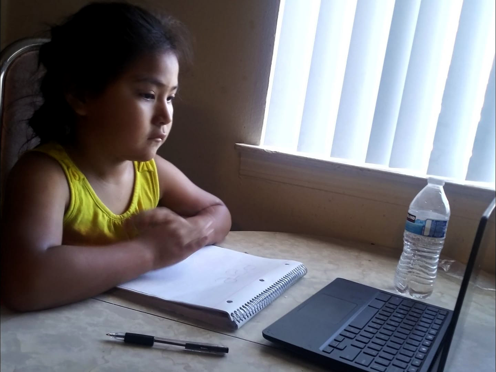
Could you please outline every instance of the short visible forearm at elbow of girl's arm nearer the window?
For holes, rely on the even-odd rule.
[[[215,244],[224,240],[231,229],[231,214],[224,204],[213,205],[201,210],[193,217],[188,217],[187,220],[203,227],[211,222],[208,228],[208,243]]]

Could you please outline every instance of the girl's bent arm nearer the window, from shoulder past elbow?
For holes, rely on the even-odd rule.
[[[155,164],[160,184],[159,205],[186,218],[193,226],[207,230],[207,245],[221,242],[231,229],[231,214],[222,200],[194,185],[158,155]]]

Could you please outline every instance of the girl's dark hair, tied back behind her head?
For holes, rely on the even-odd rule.
[[[50,33],[39,54],[46,68],[40,88],[44,103],[29,120],[41,143],[73,138],[77,117],[67,93],[96,96],[149,53],[171,51],[180,63],[191,57],[181,23],[122,2],[86,5]]]

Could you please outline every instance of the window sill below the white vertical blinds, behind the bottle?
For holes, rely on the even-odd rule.
[[[391,169],[358,166],[341,159],[316,159],[261,146],[236,144],[242,177],[303,186],[379,202],[408,206],[426,184],[426,177]],[[482,183],[446,181],[451,215],[479,220],[495,197]],[[373,213],[373,211],[370,211]],[[365,211],[367,213],[367,211]]]

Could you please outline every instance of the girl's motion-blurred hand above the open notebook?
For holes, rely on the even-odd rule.
[[[143,211],[129,219],[128,225],[138,232],[153,254],[153,268],[180,262],[207,244],[212,233],[212,221],[192,224],[168,208],[157,207]]]

